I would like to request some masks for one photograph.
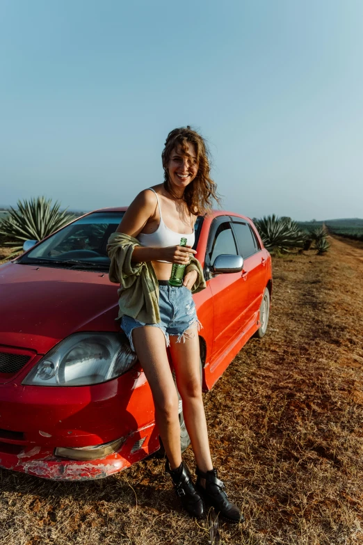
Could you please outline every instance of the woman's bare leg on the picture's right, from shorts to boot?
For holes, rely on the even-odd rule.
[[[177,387],[183,401],[186,429],[197,461],[203,471],[213,469],[209,450],[207,422],[205,420],[200,384],[200,349],[197,324],[184,334],[184,340],[177,342],[177,335],[170,335],[170,354],[177,377]]]

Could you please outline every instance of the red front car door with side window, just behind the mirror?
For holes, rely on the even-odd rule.
[[[208,284],[213,294],[214,335],[211,354],[211,370],[216,368],[223,354],[229,351],[234,340],[243,331],[248,305],[246,275],[241,272],[213,274],[211,267],[218,255],[238,255],[236,239],[227,216],[217,218],[211,224],[205,264]]]

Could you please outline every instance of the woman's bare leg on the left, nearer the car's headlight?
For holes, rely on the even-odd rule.
[[[179,402],[166,354],[165,337],[158,327],[143,326],[132,330],[132,340],[152,390],[155,420],[170,468],[175,469],[181,464]]]

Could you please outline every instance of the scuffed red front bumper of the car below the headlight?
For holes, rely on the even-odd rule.
[[[0,385],[0,466],[54,480],[106,477],[159,448],[154,404],[136,365],[94,386]],[[122,439],[117,452],[93,460],[54,455]]]

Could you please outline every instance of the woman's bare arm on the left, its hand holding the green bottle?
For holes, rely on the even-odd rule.
[[[141,191],[129,205],[116,232],[136,238],[156,210],[156,195],[152,191]],[[163,260],[171,263],[186,264],[189,254],[196,253],[188,246],[168,246],[168,248],[150,248],[136,246],[131,256],[133,262]]]

